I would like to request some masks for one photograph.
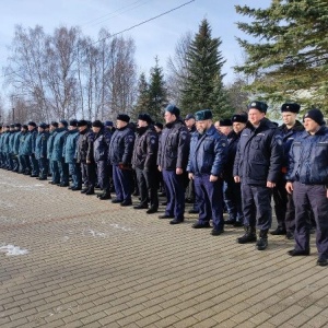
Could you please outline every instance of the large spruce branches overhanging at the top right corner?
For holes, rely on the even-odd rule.
[[[250,90],[269,101],[327,110],[327,0],[272,0],[268,9],[236,5],[236,11],[251,19],[238,28],[259,39],[238,38],[248,58],[236,70],[255,78]]]

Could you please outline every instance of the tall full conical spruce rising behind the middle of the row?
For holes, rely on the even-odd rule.
[[[221,73],[225,60],[219,51],[221,44],[220,38],[211,37],[211,27],[207,20],[202,20],[187,52],[188,78],[183,86],[183,113],[210,108],[220,116],[226,112]]]

